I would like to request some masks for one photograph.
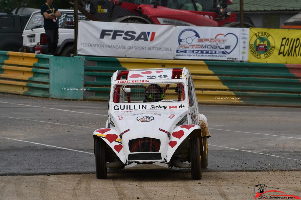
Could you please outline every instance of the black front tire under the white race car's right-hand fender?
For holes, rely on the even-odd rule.
[[[191,157],[191,178],[200,180],[202,178],[200,139],[198,137],[190,138],[190,157]]]

